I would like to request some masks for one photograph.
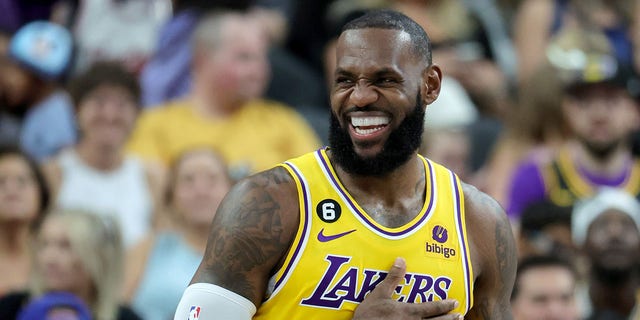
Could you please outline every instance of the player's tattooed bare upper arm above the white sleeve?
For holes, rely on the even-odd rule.
[[[296,194],[293,179],[280,167],[239,182],[216,213],[191,283],[212,283],[260,306],[298,227]]]

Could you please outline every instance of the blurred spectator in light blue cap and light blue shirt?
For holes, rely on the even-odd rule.
[[[19,143],[43,161],[75,143],[73,108],[59,86],[72,60],[73,40],[63,27],[36,21],[11,38],[0,60],[0,91],[8,108],[24,114]]]

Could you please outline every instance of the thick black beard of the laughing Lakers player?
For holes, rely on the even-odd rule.
[[[329,129],[332,159],[346,172],[359,176],[381,177],[405,164],[422,143],[425,111],[420,101],[418,94],[413,111],[389,134],[382,151],[369,158],[362,158],[355,152],[349,135],[349,124],[345,124],[345,128],[341,127],[338,118],[332,112]]]

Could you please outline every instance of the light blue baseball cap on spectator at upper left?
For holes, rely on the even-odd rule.
[[[46,80],[57,80],[69,69],[73,36],[55,23],[34,21],[11,38],[9,57]]]

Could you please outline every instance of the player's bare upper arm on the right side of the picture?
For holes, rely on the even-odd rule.
[[[467,319],[513,319],[511,290],[517,256],[509,219],[498,203],[465,185],[467,232],[476,275]]]

